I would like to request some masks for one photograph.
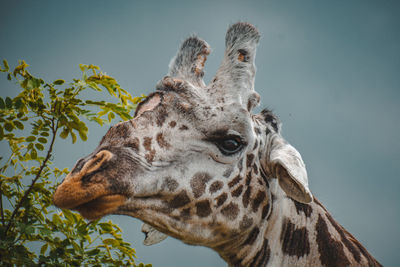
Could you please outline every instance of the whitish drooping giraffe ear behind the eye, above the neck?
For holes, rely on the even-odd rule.
[[[298,202],[312,202],[306,166],[300,153],[278,134],[272,137],[271,148],[269,170],[273,177],[278,178],[283,191]]]

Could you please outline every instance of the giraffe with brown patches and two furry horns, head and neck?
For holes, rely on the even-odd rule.
[[[229,266],[381,266],[310,192],[278,117],[252,113],[259,39],[249,23],[231,25],[206,85],[210,47],[187,38],[156,91],[76,163],[54,204],[89,220],[138,218],[145,232],[210,247]]]

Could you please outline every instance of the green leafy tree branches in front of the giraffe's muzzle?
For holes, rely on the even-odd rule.
[[[0,157],[0,265],[144,267],[135,265],[135,250],[111,221],[88,223],[52,207],[54,181],[69,171],[51,162],[58,137],[87,140],[84,118],[100,125],[130,119],[143,96],[132,97],[93,65],[80,65],[82,78],[70,84],[46,83],[24,61],[13,71],[6,60],[3,65],[0,71],[22,90],[15,98],[0,97],[0,141],[9,147]],[[89,88],[106,89],[117,103],[81,99]]]

